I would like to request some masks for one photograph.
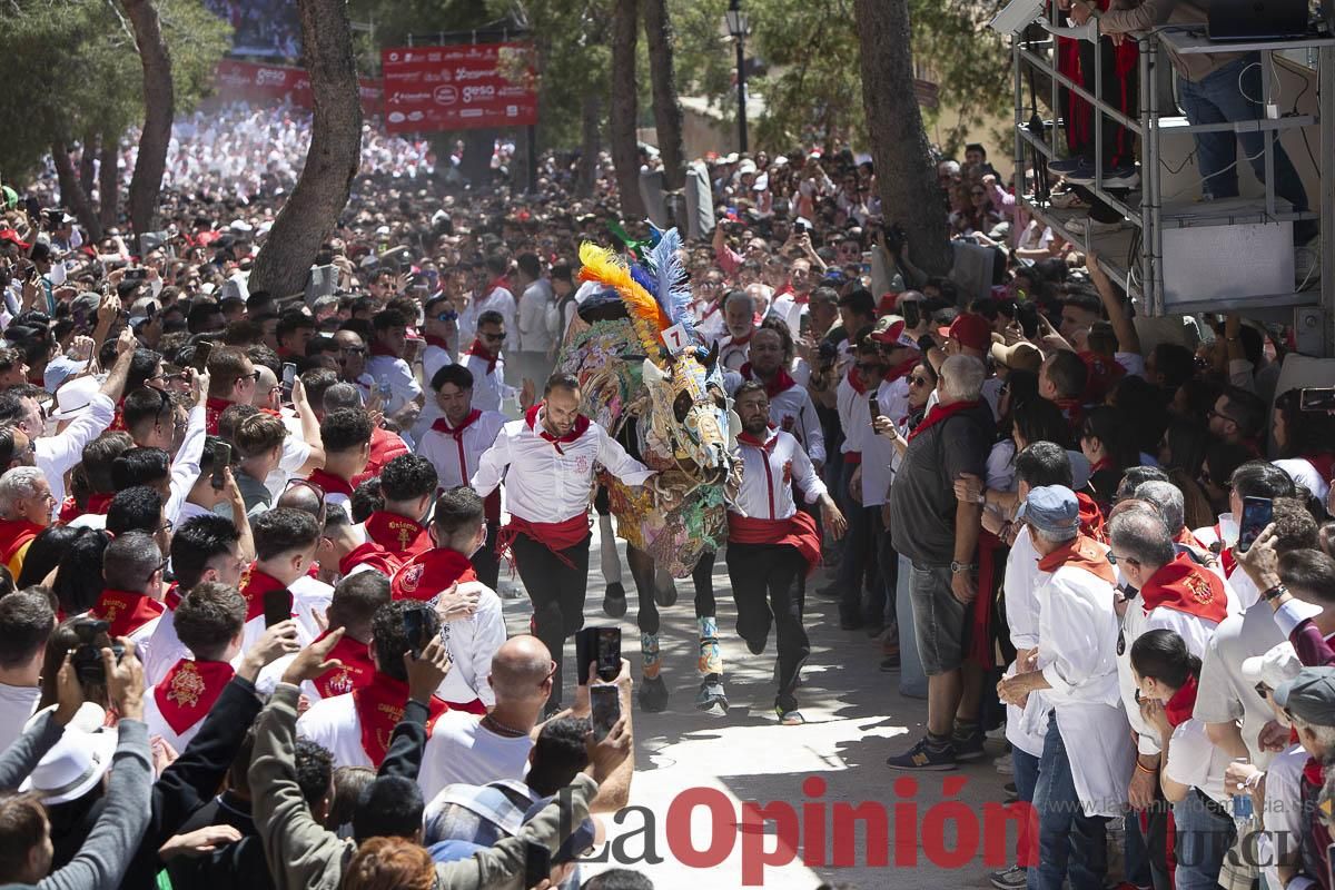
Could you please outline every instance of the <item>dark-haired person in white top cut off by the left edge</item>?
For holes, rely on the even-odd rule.
[[[41,698],[41,663],[56,614],[44,595],[15,591],[0,598],[0,746],[23,734]]]

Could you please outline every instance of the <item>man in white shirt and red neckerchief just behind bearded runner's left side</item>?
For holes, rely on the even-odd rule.
[[[431,462],[441,479],[441,490],[447,491],[469,484],[478,470],[482,454],[493,446],[506,418],[499,411],[473,407],[473,372],[462,364],[442,368],[431,378],[435,404],[441,418],[419,439],[418,454]],[[478,579],[495,590],[501,578],[497,558],[497,534],[501,531],[501,491],[486,499],[487,540],[473,554],[473,568]]]

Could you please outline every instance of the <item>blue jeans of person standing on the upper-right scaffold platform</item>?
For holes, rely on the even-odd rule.
[[[1240,80],[1240,83],[1239,83]],[[1200,81],[1177,79],[1177,100],[1192,124],[1223,124],[1264,117],[1259,100],[1262,95],[1260,55],[1247,53],[1215,71]],[[1196,140],[1196,165],[1200,168],[1202,191],[1210,199],[1238,196],[1238,143],[1244,156],[1251,159],[1256,179],[1266,181],[1266,140],[1263,133],[1211,132],[1192,133]],[[1274,139],[1274,133],[1270,133]],[[1288,153],[1274,140],[1275,196],[1283,197],[1294,209],[1308,209],[1307,191],[1298,176]],[[1307,242],[1316,235],[1316,221],[1294,223],[1294,240]]]

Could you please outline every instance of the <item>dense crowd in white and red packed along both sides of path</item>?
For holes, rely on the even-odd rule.
[[[252,290],[303,153],[290,109],[187,119],[150,250],[87,242],[48,181],[4,208],[0,882],[650,886],[581,885],[635,701],[569,638],[599,483],[655,471],[557,367],[606,304],[579,244],[646,232],[602,159],[585,199],[565,156],[537,195],[503,163],[463,192],[371,127],[312,287]],[[977,145],[939,165],[941,278],[852,152],[697,163],[693,346],[740,422],[726,558],[774,719],[804,722],[824,562],[810,595],[928,698],[892,769],[1004,735],[1032,818],[996,886],[1330,890],[1335,430],[1284,383],[1291,332],[1136,318]]]

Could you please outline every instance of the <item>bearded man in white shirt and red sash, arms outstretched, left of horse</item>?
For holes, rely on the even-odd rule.
[[[654,475],[582,416],[579,404],[579,382],[553,375],[543,403],[502,427],[471,480],[486,498],[505,479],[511,519],[501,544],[514,548],[534,630],[557,659],[553,705],[561,695],[565,639],[583,624],[594,472],[601,466],[627,486],[642,486]]]

